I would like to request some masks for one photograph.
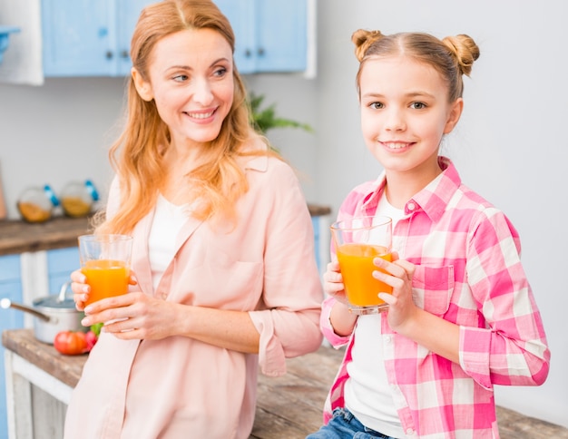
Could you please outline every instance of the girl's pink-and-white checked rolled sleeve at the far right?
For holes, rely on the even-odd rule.
[[[540,385],[550,351],[533,291],[521,265],[516,229],[495,208],[478,216],[467,273],[486,327],[462,327],[460,362],[485,388]]]

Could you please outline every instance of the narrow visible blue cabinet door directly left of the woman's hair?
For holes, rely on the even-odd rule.
[[[156,3],[156,0],[117,0],[114,29],[116,29],[116,45],[113,54],[116,59],[116,72],[120,76],[129,76],[132,60],[130,45],[134,27],[138,22],[142,9]]]

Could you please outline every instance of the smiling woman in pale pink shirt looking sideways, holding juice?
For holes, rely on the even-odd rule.
[[[323,291],[294,172],[250,128],[234,36],[211,0],[165,0],[132,36],[128,120],[96,233],[133,236],[65,438],[245,439],[258,371],[314,351]],[[89,287],[73,272],[83,309]]]

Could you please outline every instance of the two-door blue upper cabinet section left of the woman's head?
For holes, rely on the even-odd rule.
[[[142,8],[155,0],[42,0],[45,76],[124,76]]]

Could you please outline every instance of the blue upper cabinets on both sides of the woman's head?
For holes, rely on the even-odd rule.
[[[155,1],[42,0],[44,75],[130,74],[134,26]],[[214,1],[235,32],[240,73],[306,70],[307,0]]]

